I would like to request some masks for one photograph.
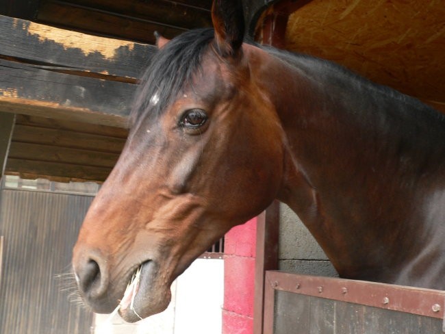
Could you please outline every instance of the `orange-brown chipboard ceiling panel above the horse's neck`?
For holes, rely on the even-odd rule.
[[[333,60],[445,112],[443,0],[312,0],[285,48]]]

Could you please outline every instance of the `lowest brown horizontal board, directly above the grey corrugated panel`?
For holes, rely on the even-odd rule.
[[[110,174],[110,168],[60,164],[56,162],[36,162],[23,159],[8,159],[5,174],[20,175],[24,179],[50,179],[58,181],[99,181],[103,182]],[[66,177],[69,175],[69,177]]]

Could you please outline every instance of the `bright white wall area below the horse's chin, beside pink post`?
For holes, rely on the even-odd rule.
[[[97,314],[95,334],[220,334],[224,261],[197,259],[172,285],[168,308],[135,324]]]

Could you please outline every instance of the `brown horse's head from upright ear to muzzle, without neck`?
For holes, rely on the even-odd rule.
[[[93,311],[110,313],[120,303],[120,315],[133,322],[164,310],[175,278],[277,196],[281,126],[251,76],[239,2],[214,3],[214,29],[159,43],[123,153],[73,252]],[[138,286],[123,298],[135,272]]]

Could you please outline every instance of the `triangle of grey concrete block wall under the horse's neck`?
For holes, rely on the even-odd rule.
[[[287,205],[280,205],[279,270],[337,277],[314,237]]]

